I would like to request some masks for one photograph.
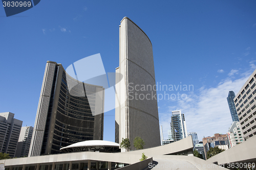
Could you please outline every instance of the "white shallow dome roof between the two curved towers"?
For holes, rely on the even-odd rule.
[[[60,148],[62,149],[67,149],[67,148],[74,148],[74,147],[119,147],[119,143],[115,143],[112,141],[106,141],[106,140],[86,140],[86,141],[81,141],[77,142],[71,145],[68,145],[67,147]]]

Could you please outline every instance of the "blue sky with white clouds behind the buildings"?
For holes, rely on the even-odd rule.
[[[119,25],[132,19],[151,39],[156,82],[193,85],[186,100],[159,100],[167,138],[172,110],[185,114],[199,140],[226,133],[229,90],[237,93],[256,69],[256,1],[46,0],[6,17],[0,7],[0,112],[34,126],[45,65],[67,68],[100,53],[105,71],[119,65]],[[158,91],[158,94],[163,91]],[[104,117],[104,140],[114,141],[114,110]]]

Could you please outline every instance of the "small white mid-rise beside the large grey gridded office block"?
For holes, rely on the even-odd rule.
[[[244,142],[244,134],[241,131],[240,122],[235,121],[231,124],[227,132],[227,139],[229,148],[232,148],[237,144]]]

